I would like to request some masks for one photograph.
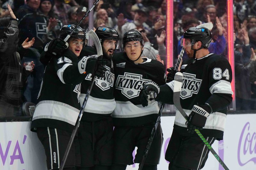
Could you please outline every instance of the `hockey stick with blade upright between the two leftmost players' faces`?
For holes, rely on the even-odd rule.
[[[101,44],[100,44],[100,40],[99,40],[98,36],[96,35],[96,33],[93,30],[89,31],[89,36],[92,38],[92,41],[94,42],[94,45],[95,45],[95,47],[97,49],[98,58],[102,58],[103,53],[102,53],[102,48],[101,48]],[[76,136],[76,131],[77,131],[78,127],[79,127],[81,118],[82,118],[83,113],[84,113],[84,108],[85,108],[86,103],[88,101],[88,98],[89,98],[89,96],[91,94],[92,86],[94,84],[95,78],[96,78],[96,76],[93,75],[92,81],[91,81],[91,85],[89,86],[89,88],[87,90],[87,93],[85,95],[84,102],[82,104],[82,107],[80,109],[79,115],[78,115],[77,120],[76,120],[75,128],[73,129],[73,131],[71,133],[71,137],[69,139],[69,142],[68,142],[68,145],[67,145],[67,149],[66,149],[66,151],[64,153],[64,156],[63,156],[63,159],[61,161],[60,169],[59,170],[63,170],[63,167],[64,167],[64,165],[66,163],[67,158],[68,158],[68,153],[69,153],[69,151],[71,149],[71,145],[72,145],[72,143],[74,141],[74,138]]]

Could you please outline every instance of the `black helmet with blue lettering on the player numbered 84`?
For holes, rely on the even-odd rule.
[[[209,29],[202,26],[190,27],[184,32],[184,39],[180,41],[181,46],[185,46],[185,39],[191,40],[191,46],[193,46],[196,41],[201,41],[202,48],[209,48],[212,41],[212,34]]]

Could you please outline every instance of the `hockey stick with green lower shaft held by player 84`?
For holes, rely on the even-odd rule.
[[[173,88],[173,102],[176,108],[180,111],[181,115],[188,121],[188,115],[184,112],[180,105],[180,91],[181,91],[181,86],[182,86],[182,78],[183,74],[181,72],[177,72],[175,74],[174,78],[174,88]],[[229,170],[228,167],[224,164],[224,162],[220,159],[219,155],[214,151],[212,146],[207,142],[207,140],[204,138],[204,136],[201,134],[201,132],[196,129],[196,134],[202,139],[204,142],[205,146],[212,152],[214,157],[219,161],[220,165],[225,169]]]

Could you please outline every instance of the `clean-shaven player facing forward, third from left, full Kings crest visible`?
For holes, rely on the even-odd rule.
[[[165,84],[164,65],[142,58],[144,41],[138,31],[128,31],[123,37],[123,50],[114,55],[116,108],[114,122],[114,158],[111,170],[125,170],[133,164],[132,152],[138,147],[134,162],[140,163],[158,116],[158,103],[152,100],[142,107],[139,92],[151,81]],[[143,169],[156,170],[163,142],[159,124]]]

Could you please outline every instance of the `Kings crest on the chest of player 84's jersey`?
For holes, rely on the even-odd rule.
[[[180,97],[187,99],[192,94],[197,94],[202,84],[201,79],[197,79],[195,74],[183,73],[182,86],[180,91]]]

